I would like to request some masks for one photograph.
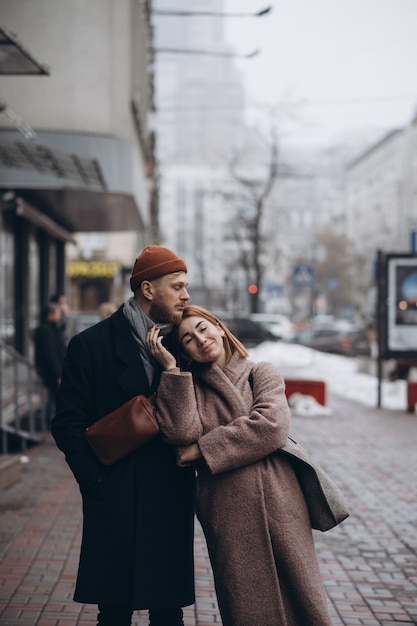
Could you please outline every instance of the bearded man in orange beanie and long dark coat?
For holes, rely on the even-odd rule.
[[[100,626],[128,626],[135,609],[149,609],[152,626],[182,626],[181,607],[194,603],[193,470],[176,465],[160,435],[110,466],[85,438],[93,422],[158,386],[146,334],[156,325],[170,345],[189,300],[186,273],[171,250],[146,247],[133,266],[133,298],[67,349],[52,434],[83,497],[74,600],[98,604]]]

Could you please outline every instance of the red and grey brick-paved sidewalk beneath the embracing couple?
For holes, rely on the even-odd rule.
[[[328,417],[294,417],[292,433],[352,508],[338,528],[315,531],[333,624],[417,624],[417,418],[340,398],[329,406]],[[78,488],[52,442],[28,456],[21,480],[0,492],[0,624],[93,626],[96,608],[72,602]],[[195,555],[197,602],[186,626],[221,624],[199,527]],[[134,626],[147,623],[146,613],[135,614]]]

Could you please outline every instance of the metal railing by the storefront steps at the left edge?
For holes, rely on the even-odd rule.
[[[9,451],[14,436],[22,450],[46,433],[45,390],[33,363],[0,340],[1,451]]]

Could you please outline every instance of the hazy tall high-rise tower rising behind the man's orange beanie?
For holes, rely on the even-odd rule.
[[[187,260],[191,289],[217,291],[221,300],[227,274],[221,233],[230,207],[219,191],[244,141],[243,83],[224,18],[198,14],[221,14],[223,0],[184,0],[178,7],[181,15],[172,15],[172,2],[154,3],[160,235]]]

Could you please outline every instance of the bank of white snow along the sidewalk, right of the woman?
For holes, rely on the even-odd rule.
[[[365,406],[377,406],[378,378],[376,363],[371,359],[327,354],[284,342],[264,342],[251,348],[249,353],[251,360],[255,362],[273,363],[284,378],[323,380],[330,393],[355,400]],[[381,406],[384,409],[406,410],[406,381],[383,380]]]

